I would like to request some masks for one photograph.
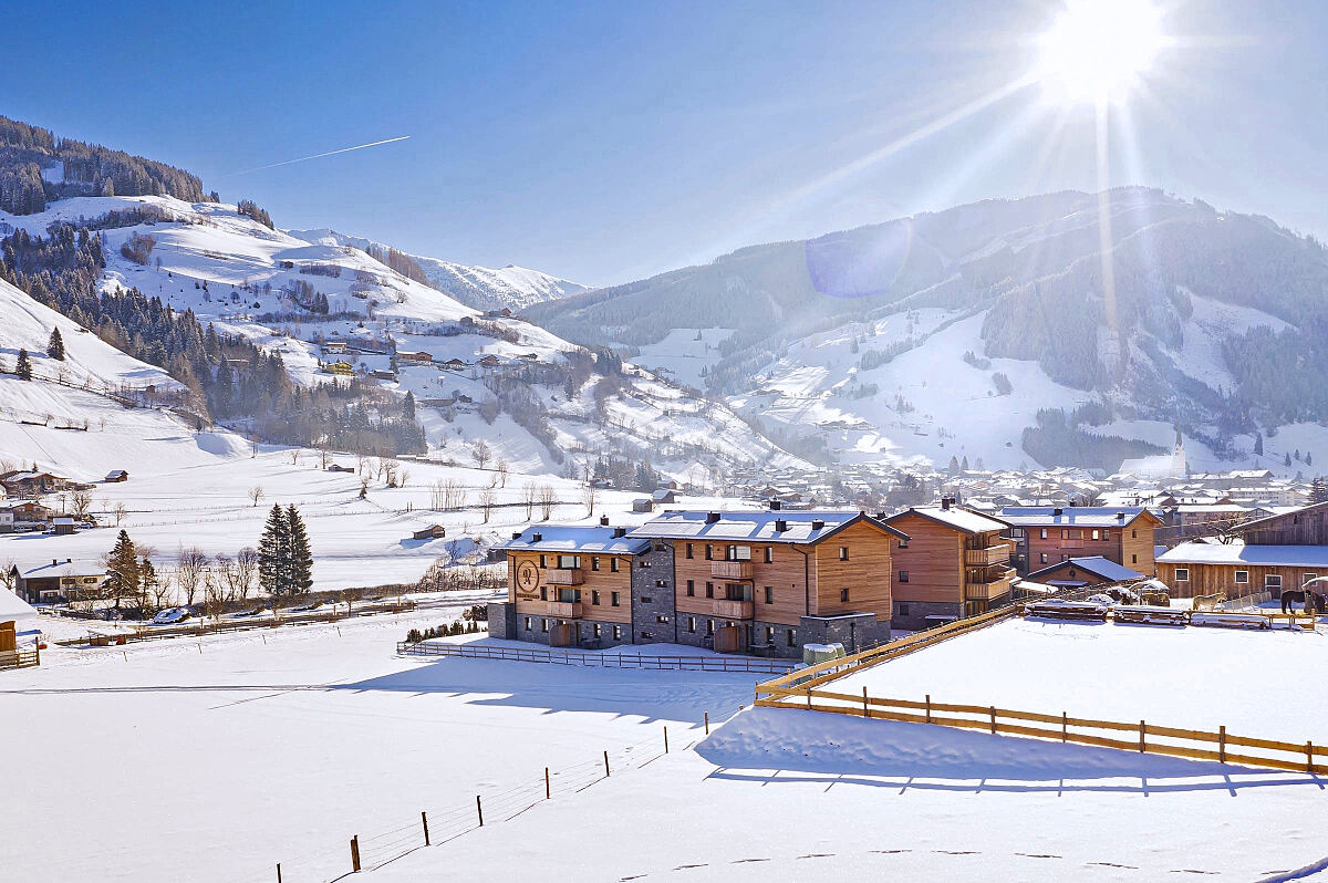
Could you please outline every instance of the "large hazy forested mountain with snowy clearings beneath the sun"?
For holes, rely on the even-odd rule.
[[[1155,433],[1129,428],[1179,420],[1197,462],[1228,466],[1252,462],[1258,430],[1328,422],[1315,381],[1328,352],[1315,331],[1324,250],[1157,190],[1105,199],[1110,297],[1102,206],[1061,193],[754,246],[526,315],[704,382],[768,429],[819,437],[850,459],[1032,465],[1024,430],[1042,432],[1038,410],[1086,402],[1114,412],[1126,440],[1151,443]],[[730,340],[696,343],[699,327]],[[1295,352],[1299,364],[1278,356]],[[1078,465],[1110,470],[1112,454]]]

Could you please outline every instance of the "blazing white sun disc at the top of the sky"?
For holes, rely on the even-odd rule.
[[[1121,101],[1165,44],[1149,0],[1065,0],[1038,37],[1037,80],[1064,104]]]

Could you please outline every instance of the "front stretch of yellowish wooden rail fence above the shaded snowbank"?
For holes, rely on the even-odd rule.
[[[1282,742],[1248,736],[1232,736],[1227,733],[1226,726],[1219,726],[1216,732],[1191,730],[1175,726],[1159,726],[1146,721],[1123,724],[1118,721],[1070,717],[1065,712],[1045,714],[1040,712],[1017,712],[995,705],[934,702],[931,696],[927,696],[923,701],[882,698],[869,696],[866,686],[862,689],[862,696],[854,696],[850,693],[818,690],[811,686],[774,685],[784,680],[788,680],[788,677],[757,685],[756,704],[765,708],[811,709],[815,712],[853,714],[855,717],[883,721],[984,730],[997,736],[1028,736],[1032,738],[1116,748],[1147,754],[1218,761],[1220,763],[1243,763],[1247,766],[1303,773],[1328,773],[1328,763],[1316,762],[1316,758],[1328,758],[1328,746],[1316,745],[1312,741]],[[1053,726],[1032,726],[1031,724],[1049,724]],[[1100,736],[1096,733],[1110,733],[1112,736]],[[1130,738],[1120,738],[1125,733],[1129,733]],[[1116,737],[1113,738],[1113,736]],[[1195,744],[1199,746],[1195,746]],[[1258,749],[1262,753],[1236,753],[1230,750],[1231,746]]]

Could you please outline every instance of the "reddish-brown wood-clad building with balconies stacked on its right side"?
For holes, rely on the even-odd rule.
[[[1015,570],[1009,524],[943,499],[884,519],[908,535],[894,548],[896,628],[922,629],[985,613],[1009,599]]]

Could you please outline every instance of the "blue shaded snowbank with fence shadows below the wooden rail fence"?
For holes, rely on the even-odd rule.
[[[1228,791],[1328,779],[1211,761],[1141,754],[927,724],[754,708],[696,748],[713,778],[823,782],[943,791]]]

